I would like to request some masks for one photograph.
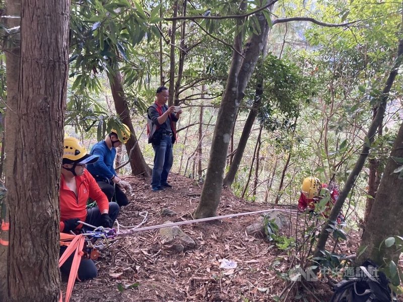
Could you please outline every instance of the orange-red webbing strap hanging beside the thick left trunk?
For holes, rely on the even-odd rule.
[[[68,234],[67,234],[68,235]],[[69,235],[70,236],[70,235]],[[71,235],[73,236],[73,235]],[[64,236],[63,236],[64,237]],[[62,233],[60,233],[60,239],[62,238]],[[59,267],[63,265],[63,263],[70,257],[71,254],[74,253],[72,267],[70,269],[69,281],[67,283],[65,302],[69,302],[70,296],[72,295],[74,283],[76,281],[76,277],[78,274],[81,257],[83,256],[83,248],[84,248],[84,236],[82,234],[74,236],[74,239],[69,244],[69,246],[64,251],[63,255],[61,255],[59,259]],[[59,302],[63,301],[63,297],[60,293]]]

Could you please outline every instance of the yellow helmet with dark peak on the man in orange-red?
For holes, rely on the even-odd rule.
[[[98,160],[98,155],[89,155],[83,143],[77,138],[64,137],[63,164],[93,164]]]

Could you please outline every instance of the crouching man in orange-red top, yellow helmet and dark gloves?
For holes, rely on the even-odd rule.
[[[86,169],[86,165],[93,164],[97,160],[98,156],[87,154],[87,150],[78,139],[64,138],[59,191],[60,232],[80,233],[83,225],[78,221],[105,228],[113,226],[119,213],[119,206],[115,202],[108,202],[106,195]],[[87,211],[88,198],[95,200],[97,206]],[[60,248],[60,256],[65,249]],[[73,256],[71,255],[60,267],[62,273],[70,273]],[[79,279],[91,279],[96,276],[95,263],[91,259],[82,259],[78,270]]]

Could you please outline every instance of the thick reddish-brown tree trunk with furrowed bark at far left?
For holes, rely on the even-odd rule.
[[[7,291],[0,293],[6,301],[59,297],[58,191],[69,17],[69,1],[23,1],[20,65],[10,70],[16,66],[7,63],[8,106],[14,112],[6,121],[6,203],[12,217],[7,272],[1,274],[7,276]]]

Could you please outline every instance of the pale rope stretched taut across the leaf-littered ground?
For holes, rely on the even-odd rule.
[[[170,226],[175,226],[175,225],[192,224],[192,223],[203,222],[203,221],[210,221],[210,220],[217,220],[217,219],[224,219],[224,218],[232,218],[232,217],[238,217],[238,216],[244,216],[244,215],[252,215],[252,214],[260,214],[260,213],[266,213],[266,212],[272,212],[272,211],[287,212],[287,213],[298,213],[298,210],[291,210],[291,209],[290,210],[283,210],[283,209],[260,210],[260,211],[253,211],[253,212],[245,212],[245,213],[229,214],[229,215],[223,215],[223,216],[200,218],[200,219],[194,219],[194,220],[172,222],[172,223],[166,223],[166,224],[151,225],[151,226],[146,226],[145,228],[140,228],[140,229],[133,228],[133,229],[130,229],[130,230],[123,230],[123,231],[120,231],[120,232],[118,231],[116,233],[116,235],[117,236],[126,236],[126,235],[130,235],[130,234],[137,233],[137,232],[144,232],[144,231],[157,230],[157,229],[162,229],[162,228],[169,228]]]

